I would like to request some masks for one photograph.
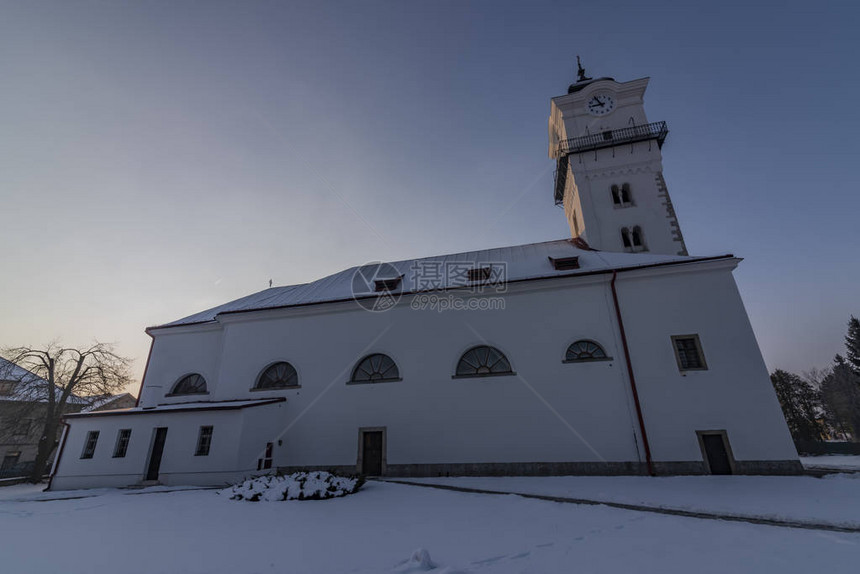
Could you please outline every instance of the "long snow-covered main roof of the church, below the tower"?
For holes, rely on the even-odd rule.
[[[578,269],[557,270],[551,259],[562,259],[568,257],[579,258]],[[720,257],[731,257],[723,255]],[[527,245],[515,245],[511,247],[500,247],[495,249],[484,249],[480,251],[467,251],[465,253],[454,253],[450,255],[439,255],[424,257],[420,259],[406,259],[403,261],[388,262],[385,269],[391,270],[390,274],[402,276],[399,293],[419,293],[438,291],[439,286],[426,286],[416,277],[416,269],[426,269],[430,266],[445,266],[452,264],[471,264],[478,266],[488,263],[503,263],[508,283],[525,281],[531,279],[543,279],[549,277],[562,277],[570,275],[582,275],[595,272],[606,272],[635,267],[647,267],[671,263],[689,263],[713,259],[713,257],[690,257],[681,255],[659,255],[653,253],[610,253],[588,249],[583,242],[575,239],[561,239],[543,243],[531,243]],[[214,321],[218,315],[223,313],[238,313],[245,311],[257,311],[263,309],[274,309],[282,307],[295,307],[317,303],[335,301],[347,301],[354,298],[353,282],[356,273],[360,270],[371,269],[374,265],[351,267],[323,277],[310,283],[301,285],[289,285],[286,287],[272,287],[263,291],[230,301],[218,307],[213,307],[194,315],[189,315],[177,321],[165,323],[149,329],[163,327],[175,327],[180,325],[192,325]],[[418,280],[416,280],[418,279]],[[462,287],[462,285],[460,285]],[[450,289],[444,287],[442,290]],[[368,293],[368,297],[378,294]]]

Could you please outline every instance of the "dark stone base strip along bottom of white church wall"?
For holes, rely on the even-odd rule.
[[[735,474],[803,474],[799,460],[738,460]],[[289,474],[302,470],[327,470],[337,474],[357,474],[354,465],[280,466]],[[706,474],[701,461],[654,462],[658,476]],[[644,462],[476,462],[441,464],[389,464],[382,475],[399,478],[438,476],[647,476]]]

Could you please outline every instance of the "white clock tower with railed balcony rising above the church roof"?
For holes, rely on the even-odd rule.
[[[555,202],[571,234],[601,251],[687,255],[663,179],[669,130],[645,116],[648,78],[592,79],[578,67],[577,82],[552,99],[549,117]]]

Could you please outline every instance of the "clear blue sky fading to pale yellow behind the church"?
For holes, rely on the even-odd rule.
[[[858,6],[0,1],[0,345],[140,375],[144,327],[270,278],[569,236],[546,125],[580,54],[651,77],[687,246],[745,259],[768,366],[826,366],[860,315]]]

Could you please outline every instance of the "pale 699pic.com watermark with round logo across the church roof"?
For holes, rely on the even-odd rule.
[[[504,261],[419,259],[409,266],[408,276],[395,265],[375,262],[356,269],[352,295],[373,312],[394,308],[410,292],[415,294],[410,307],[418,311],[491,311],[505,308],[504,297],[494,295],[507,292],[507,280]]]

